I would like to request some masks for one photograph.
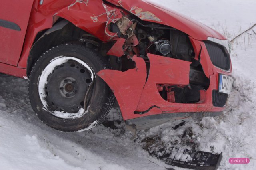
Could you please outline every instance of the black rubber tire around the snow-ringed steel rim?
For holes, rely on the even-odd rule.
[[[40,99],[38,82],[42,71],[52,59],[58,56],[69,56],[80,59],[88,64],[94,70],[94,73],[102,69],[109,69],[108,60],[95,50],[88,49],[82,45],[60,45],[46,51],[46,53],[36,61],[29,76],[28,93],[30,103],[42,122],[56,130],[64,132],[88,130],[99,123],[110,111],[114,101],[114,95],[108,85],[100,77],[95,75],[92,92],[88,101],[90,107],[88,107],[86,114],[74,119],[63,119],[49,113],[49,110],[46,111]]]

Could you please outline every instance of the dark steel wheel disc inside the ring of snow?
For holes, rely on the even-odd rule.
[[[54,68],[45,85],[46,102],[52,111],[77,113],[91,83],[90,72],[80,63],[69,60]]]

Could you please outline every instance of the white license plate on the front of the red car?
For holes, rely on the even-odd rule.
[[[230,94],[235,86],[235,78],[231,75],[219,74],[219,92]]]

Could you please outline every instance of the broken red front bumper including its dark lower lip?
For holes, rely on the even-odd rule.
[[[230,66],[229,71],[224,71],[215,67],[205,43],[192,38],[190,41],[195,49],[196,59],[210,80],[207,90],[199,90],[200,100],[197,102],[177,103],[172,91],[173,87],[190,86],[192,70],[191,62],[188,61],[148,53],[148,76],[144,59],[136,55],[131,58],[136,63],[134,69],[124,72],[102,70],[98,73],[114,92],[127,125],[139,130],[154,127],[174,118],[221,115],[228,95],[218,92],[218,78],[219,74],[231,75],[232,68]],[[170,87],[166,92],[167,99],[163,99],[159,94],[163,87]]]

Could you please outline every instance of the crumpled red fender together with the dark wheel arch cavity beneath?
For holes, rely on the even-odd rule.
[[[49,6],[55,6],[56,8],[50,9]],[[26,38],[25,50],[18,64],[18,67],[27,69],[28,77],[33,64],[45,51],[56,45],[73,42],[75,40],[74,37],[72,38],[74,33],[79,31],[88,32],[101,42],[108,42],[116,37],[115,33],[106,29],[106,23],[109,20],[107,14],[110,12],[108,10],[116,10],[116,8],[104,4],[102,1],[90,1],[90,4],[88,4],[88,1],[68,0],[62,2],[61,0],[55,0],[44,2],[41,5],[35,3],[34,8],[37,9],[33,10],[31,14],[31,23],[34,24],[27,31],[32,34],[28,34]],[[120,10],[118,10],[119,13]],[[58,20],[53,25],[55,19]],[[67,29],[67,26],[72,26],[72,29]],[[66,37],[67,35],[70,37]]]

